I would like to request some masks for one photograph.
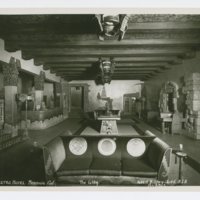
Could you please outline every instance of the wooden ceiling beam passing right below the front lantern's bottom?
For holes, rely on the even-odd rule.
[[[69,36],[68,36],[69,37]],[[25,49],[25,48],[67,48],[67,47],[139,47],[139,46],[198,46],[200,38],[191,39],[124,39],[122,41],[108,40],[80,40],[80,41],[20,41],[6,40],[7,49]]]

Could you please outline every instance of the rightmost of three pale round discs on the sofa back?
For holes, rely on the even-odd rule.
[[[126,149],[129,155],[133,157],[140,157],[144,154],[146,146],[140,138],[130,139],[127,143]]]

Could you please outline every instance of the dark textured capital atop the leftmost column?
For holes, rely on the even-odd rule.
[[[19,61],[15,62],[15,58],[11,57],[9,64],[3,65],[3,81],[4,86],[17,86]]]

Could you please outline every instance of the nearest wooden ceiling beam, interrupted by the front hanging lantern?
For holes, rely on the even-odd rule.
[[[14,25],[12,24],[12,34],[14,33],[31,33],[37,31],[39,33],[55,33],[56,30],[61,33],[79,33],[82,29],[81,27],[86,27],[86,30],[82,30],[84,33],[95,33],[95,30],[98,29],[98,22],[91,24],[88,26],[87,23],[75,23],[74,26],[73,21],[71,23],[56,23],[56,29],[52,28],[52,24],[19,24]],[[4,25],[4,29],[2,30],[3,34],[10,32],[10,25],[9,24],[2,24]],[[94,25],[94,27],[92,27]],[[95,27],[96,25],[96,27]],[[68,27],[65,29],[64,27]],[[78,28],[79,27],[79,28]],[[129,22],[128,24],[128,31],[127,33],[133,31],[154,31],[154,30],[199,30],[200,29],[200,22],[142,22],[142,23],[132,23]],[[96,30],[98,31],[98,30]]]

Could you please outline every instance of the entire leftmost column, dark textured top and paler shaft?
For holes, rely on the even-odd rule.
[[[18,68],[15,58],[11,57],[9,64],[3,66],[3,83],[5,93],[5,125],[4,132],[13,137],[18,134],[18,112],[17,112],[17,83]]]

